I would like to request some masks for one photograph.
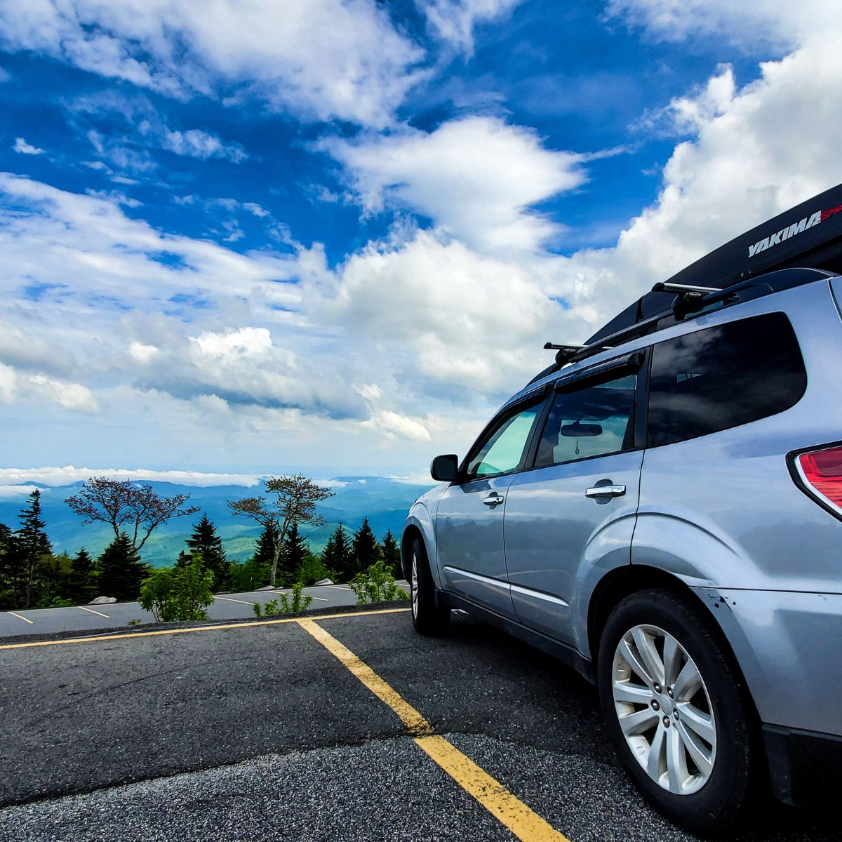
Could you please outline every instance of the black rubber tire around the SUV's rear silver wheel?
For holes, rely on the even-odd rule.
[[[715,722],[716,751],[706,781],[701,788],[689,794],[671,792],[649,775],[642,766],[644,760],[637,759],[626,741],[620,724],[613,690],[615,655],[622,638],[636,626],[655,626],[663,632],[668,632],[695,662],[704,682],[704,689],[698,692],[704,693],[706,690],[709,698],[709,712],[712,713]],[[621,665],[622,662],[619,663]],[[639,683],[634,682],[636,685]],[[754,789],[754,763],[758,753],[754,749],[752,711],[742,676],[733,664],[717,627],[711,617],[706,616],[701,605],[697,605],[684,594],[669,589],[645,590],[622,600],[611,613],[600,640],[597,685],[605,722],[622,763],[637,789],[660,813],[680,827],[697,834],[717,833],[738,822]],[[669,726],[663,720],[668,719],[669,725],[673,726],[675,739],[679,738],[680,732],[671,717],[660,715],[673,711],[673,717],[677,718],[680,714],[678,705],[674,705],[673,701],[665,701],[666,692],[667,688],[662,687],[662,695],[653,696],[658,708],[653,706],[652,701],[636,704],[642,705],[642,711],[648,710],[649,707],[658,711],[656,727],[662,730],[665,745],[669,747],[669,743],[666,743],[669,739],[666,736],[669,734]],[[702,698],[706,702],[704,696],[695,698]],[[658,702],[658,699],[662,701]],[[669,700],[672,699],[670,688]],[[629,711],[628,708],[623,710]],[[684,733],[688,733],[684,722],[680,724]],[[649,751],[651,754],[655,732],[653,730],[647,733],[652,735]],[[649,739],[645,735],[644,738]],[[638,743],[638,746],[640,744]],[[641,757],[643,756],[641,750]],[[656,756],[659,757],[660,754]],[[698,781],[703,780],[700,770],[701,766],[695,767],[694,773],[699,775],[696,779]],[[669,773],[664,771],[662,774]],[[690,778],[685,778],[685,781],[687,780]]]

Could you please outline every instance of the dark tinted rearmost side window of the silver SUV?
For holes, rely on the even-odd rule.
[[[780,312],[728,322],[653,348],[648,445],[748,424],[797,403],[807,372]]]

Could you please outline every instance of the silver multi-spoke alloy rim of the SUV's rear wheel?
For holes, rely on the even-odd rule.
[[[614,655],[617,719],[637,762],[675,795],[705,786],[717,756],[717,723],[693,658],[658,626],[634,626]]]

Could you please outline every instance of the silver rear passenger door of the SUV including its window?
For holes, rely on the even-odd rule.
[[[505,546],[518,619],[573,643],[571,604],[594,564],[631,560],[642,465],[635,423],[642,355],[557,386],[534,465],[513,477]],[[640,413],[638,413],[640,414]]]

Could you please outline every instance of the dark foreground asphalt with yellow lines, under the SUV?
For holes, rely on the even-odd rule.
[[[691,838],[618,769],[590,685],[464,615],[3,644],[2,839]],[[727,839],[842,834],[770,803]]]

